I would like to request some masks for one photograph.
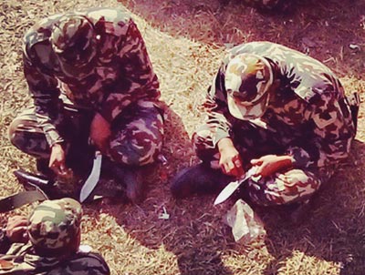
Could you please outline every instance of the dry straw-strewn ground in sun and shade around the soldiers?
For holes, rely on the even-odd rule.
[[[203,119],[197,107],[224,44],[269,40],[292,46],[330,66],[348,92],[359,90],[364,99],[363,0],[301,1],[287,15],[259,14],[239,0],[1,1],[0,197],[21,189],[14,169],[34,169],[34,161],[12,148],[6,136],[16,113],[31,103],[22,74],[21,37],[38,18],[93,5],[130,10],[169,107],[163,149],[168,163],[157,171],[147,199],[140,205],[85,207],[83,242],[101,252],[112,274],[365,273],[363,109],[349,160],[313,199],[308,219],[293,225],[280,209],[259,209],[265,239],[235,244],[221,220],[232,201],[216,208],[210,196],[175,201],[168,185],[177,170],[197,161],[189,137]],[[158,219],[163,207],[170,219]],[[1,224],[5,218],[0,216]]]

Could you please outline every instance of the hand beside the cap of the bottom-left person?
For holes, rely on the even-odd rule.
[[[28,241],[27,235],[28,219],[24,216],[14,216],[7,220],[6,225],[6,237],[11,242],[24,242]]]

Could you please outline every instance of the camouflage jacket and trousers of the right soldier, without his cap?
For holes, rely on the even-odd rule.
[[[245,54],[266,62],[276,87],[262,116],[249,120],[232,115],[224,83],[228,63]],[[244,165],[269,154],[292,157],[293,168],[245,185],[250,198],[262,205],[308,199],[348,157],[355,136],[339,79],[317,60],[269,42],[232,48],[208,89],[204,107],[208,119],[194,133],[193,144],[199,158],[212,168],[218,168],[216,145],[222,138],[233,139]]]

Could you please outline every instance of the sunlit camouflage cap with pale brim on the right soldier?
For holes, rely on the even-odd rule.
[[[241,54],[229,61],[224,85],[232,116],[242,119],[261,117],[266,110],[273,71],[265,58]]]

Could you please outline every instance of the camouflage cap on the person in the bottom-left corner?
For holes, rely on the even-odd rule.
[[[29,239],[42,250],[70,248],[78,238],[81,218],[75,199],[45,200],[29,216]]]

